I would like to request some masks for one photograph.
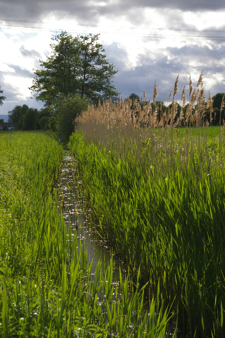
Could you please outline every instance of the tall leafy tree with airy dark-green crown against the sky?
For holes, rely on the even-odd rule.
[[[117,73],[106,59],[99,34],[72,37],[62,32],[52,38],[51,53],[46,61],[40,60],[42,69],[36,69],[36,77],[29,88],[36,100],[46,106],[54,104],[61,94],[86,96],[92,102],[110,97],[116,100],[118,92],[112,84]]]

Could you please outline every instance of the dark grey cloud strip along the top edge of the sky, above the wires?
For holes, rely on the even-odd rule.
[[[103,6],[101,3],[105,2]],[[72,16],[78,20],[94,23],[99,16],[126,15],[132,9],[149,8],[171,8],[188,11],[196,10],[219,10],[225,8],[223,0],[48,0],[48,1],[25,1],[25,0],[0,0],[0,13],[2,19],[40,20],[43,15],[50,12],[58,17]],[[129,20],[129,16],[127,15]]]

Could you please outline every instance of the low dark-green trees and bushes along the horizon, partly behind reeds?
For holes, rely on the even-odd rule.
[[[224,93],[218,93],[212,97],[213,100],[213,122],[212,125],[220,123],[220,106]],[[140,99],[138,95],[132,93],[129,98],[134,102],[136,99],[143,108],[146,101]],[[12,111],[8,112],[8,122],[12,123],[16,130],[34,130],[34,129],[49,129],[51,125],[53,130],[57,130],[63,137],[65,142],[68,142],[69,135],[73,131],[74,119],[83,111],[87,109],[90,102],[86,98],[80,96],[61,97],[54,108],[45,107],[40,110],[37,108],[29,108],[27,104],[16,105]],[[153,104],[153,103],[151,103]],[[157,114],[158,120],[161,119],[161,114],[171,108],[171,105],[166,107],[164,102],[155,101],[155,105],[158,107]],[[175,121],[179,118],[181,106],[177,103],[178,109],[175,117]],[[183,107],[183,114],[185,117],[188,104]],[[194,111],[197,105],[194,107]],[[133,103],[131,105],[131,114],[134,113]],[[138,113],[138,112],[136,112]],[[210,123],[209,108],[205,109],[205,120]],[[224,109],[221,112],[221,124],[224,120]]]

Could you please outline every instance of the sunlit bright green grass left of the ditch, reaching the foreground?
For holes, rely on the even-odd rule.
[[[1,336],[165,337],[171,309],[162,311],[159,287],[145,313],[138,280],[120,272],[112,283],[113,260],[107,271],[98,263],[92,276],[53,189],[64,156],[58,142],[13,132],[1,133],[0,145]]]

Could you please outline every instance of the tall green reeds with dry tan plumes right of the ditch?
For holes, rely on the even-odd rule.
[[[90,106],[75,120],[69,148],[100,236],[131,270],[140,265],[152,290],[160,281],[166,304],[175,298],[181,330],[223,337],[225,137],[222,125],[212,126],[202,76],[195,88],[189,81],[185,114],[185,88],[176,108],[178,78],[161,119],[156,85],[152,103]]]

